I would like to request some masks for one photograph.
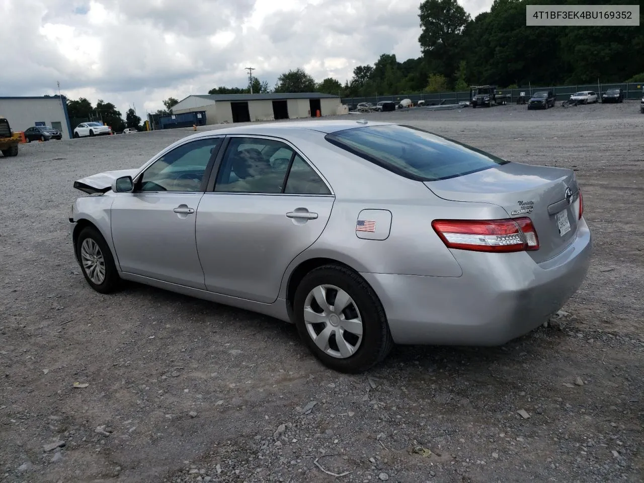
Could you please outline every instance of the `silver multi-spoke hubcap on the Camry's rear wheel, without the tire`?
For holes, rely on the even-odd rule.
[[[354,299],[335,285],[318,285],[304,301],[308,335],[337,359],[351,357],[363,339],[363,321]]]

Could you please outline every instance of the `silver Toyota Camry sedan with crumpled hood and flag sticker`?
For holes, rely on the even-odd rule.
[[[363,372],[397,344],[500,345],[580,287],[591,232],[574,172],[365,120],[197,133],[74,183],[94,290],[129,280],[296,325]]]

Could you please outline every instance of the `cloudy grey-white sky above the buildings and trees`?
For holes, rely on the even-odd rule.
[[[421,0],[0,0],[0,96],[61,92],[144,117],[167,97],[274,86],[304,68],[350,79],[381,53],[418,57]],[[472,16],[491,0],[459,0]]]

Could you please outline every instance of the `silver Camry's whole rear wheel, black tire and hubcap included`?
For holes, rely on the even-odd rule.
[[[299,283],[295,323],[310,351],[328,368],[365,372],[391,352],[384,308],[365,279],[338,265],[324,265]]]

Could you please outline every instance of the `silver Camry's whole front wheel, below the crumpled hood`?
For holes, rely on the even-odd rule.
[[[82,229],[76,242],[76,253],[82,273],[92,289],[101,294],[109,294],[117,289],[120,277],[114,258],[97,229]]]

